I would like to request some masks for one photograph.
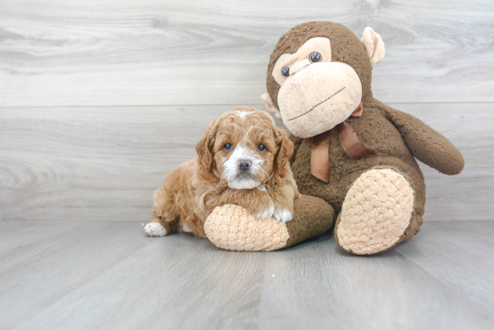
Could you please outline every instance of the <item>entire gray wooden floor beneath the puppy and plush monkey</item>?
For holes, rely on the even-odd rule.
[[[0,221],[0,328],[492,329],[493,236],[426,223],[362,257],[330,234],[232,252],[129,221]]]

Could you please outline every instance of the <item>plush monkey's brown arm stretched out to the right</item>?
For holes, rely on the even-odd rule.
[[[419,161],[448,175],[461,172],[465,165],[463,156],[448,139],[408,113],[388,106],[385,110]]]

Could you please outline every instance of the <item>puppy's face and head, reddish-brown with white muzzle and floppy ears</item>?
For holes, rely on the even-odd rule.
[[[196,150],[201,166],[230,188],[252,189],[287,166],[293,144],[267,112],[238,107],[213,122]]]

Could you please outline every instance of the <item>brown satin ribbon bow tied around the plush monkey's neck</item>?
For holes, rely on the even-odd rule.
[[[350,117],[360,117],[362,116],[362,111],[363,105],[362,102],[360,102]],[[348,156],[356,159],[375,155],[375,153],[365,148],[365,146],[358,139],[355,130],[353,130],[352,126],[348,123],[343,121],[342,123],[336,125],[335,128],[338,132],[341,146]],[[324,133],[313,138],[311,153],[311,173],[326,183],[329,183],[329,173],[331,169],[331,164],[329,163],[330,132],[331,130],[325,131]]]

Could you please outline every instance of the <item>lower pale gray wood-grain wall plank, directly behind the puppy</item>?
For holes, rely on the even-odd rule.
[[[491,104],[390,106],[437,129],[465,157],[457,176],[421,165],[425,221],[492,220]],[[233,107],[0,108],[0,141],[7,142],[0,145],[0,219],[146,222],[153,191],[197,157],[206,125]]]

